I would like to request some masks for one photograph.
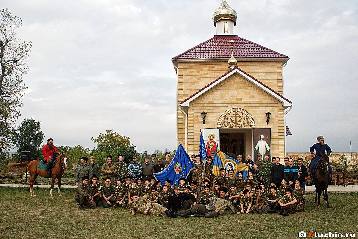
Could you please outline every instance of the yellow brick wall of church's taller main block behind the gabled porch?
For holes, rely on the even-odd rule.
[[[248,74],[250,74],[251,76],[255,77],[257,80],[260,80],[261,82],[265,83],[267,86],[277,91],[279,94],[282,94],[282,67],[280,61],[238,62],[238,67],[244,70],[245,72],[247,72]],[[179,63],[178,104],[180,104],[180,102],[185,100],[190,95],[202,89],[204,86],[216,80],[218,77],[222,76],[227,71],[228,71],[228,64],[226,61]],[[237,94],[237,92],[235,94]],[[214,106],[214,107],[219,107],[219,106]],[[222,108],[220,107],[220,109]],[[189,124],[189,119],[188,119],[188,124]],[[283,124],[283,118],[282,118],[282,124]],[[216,128],[216,126],[214,128]],[[182,112],[180,112],[179,107],[178,107],[178,138],[181,142],[185,142],[185,115]]]

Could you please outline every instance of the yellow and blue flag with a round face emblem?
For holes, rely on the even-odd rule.
[[[228,170],[233,169],[234,170],[234,177],[238,178],[237,174],[239,171],[243,172],[242,177],[246,179],[247,173],[248,173],[248,166],[246,163],[241,163],[230,156],[224,154],[220,151],[220,149],[216,150],[215,157],[213,160],[213,166],[212,166],[212,174],[213,175],[219,175],[220,174],[220,168],[226,169],[226,175],[228,175]]]

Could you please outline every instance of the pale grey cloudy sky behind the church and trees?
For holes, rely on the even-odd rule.
[[[176,75],[171,58],[213,37],[221,0],[3,0],[32,41],[19,122],[45,138],[93,148],[113,129],[152,152],[175,149]],[[355,0],[228,0],[235,34],[290,57],[284,94],[294,105],[287,152],[324,135],[333,151],[358,151]]]

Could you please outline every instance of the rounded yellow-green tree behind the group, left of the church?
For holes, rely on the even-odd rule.
[[[106,162],[108,155],[111,155],[113,161],[117,162],[117,155],[121,153],[126,163],[131,162],[133,156],[139,156],[136,146],[130,143],[130,139],[114,130],[107,130],[106,134],[99,134],[98,137],[92,138],[92,141],[97,144],[92,153],[98,159],[99,164]]]

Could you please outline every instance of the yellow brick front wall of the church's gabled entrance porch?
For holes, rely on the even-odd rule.
[[[256,128],[271,128],[272,155],[284,157],[284,116],[281,102],[266,94],[239,75],[233,75],[221,82],[215,89],[190,103],[188,108],[188,153],[199,148],[200,129],[203,127],[200,113],[207,113],[205,128],[217,128],[217,120],[224,110],[241,107],[255,118]],[[266,124],[265,113],[270,111],[270,124]],[[185,119],[184,119],[185,120]],[[185,123],[185,122],[184,122]],[[182,137],[185,128],[182,129]],[[182,140],[184,142],[184,140]]]

